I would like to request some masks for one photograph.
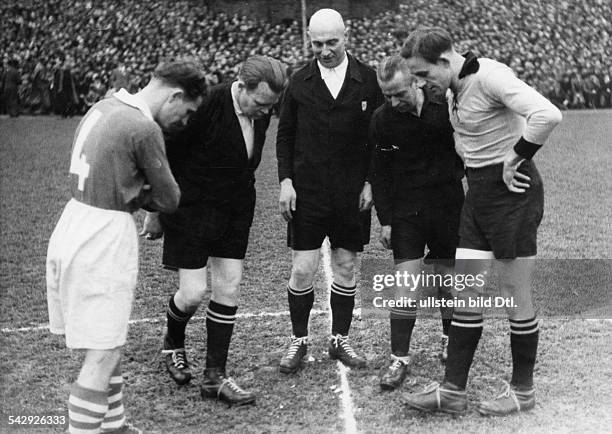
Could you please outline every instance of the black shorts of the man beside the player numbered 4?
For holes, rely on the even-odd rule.
[[[209,257],[244,259],[253,223],[255,200],[241,209],[203,207],[162,219],[165,268],[198,269]]]

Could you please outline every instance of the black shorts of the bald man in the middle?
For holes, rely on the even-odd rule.
[[[371,213],[359,212],[358,195],[353,201],[298,193],[296,208],[287,226],[287,245],[293,250],[316,250],[326,236],[332,249],[351,252],[362,252],[370,241]]]

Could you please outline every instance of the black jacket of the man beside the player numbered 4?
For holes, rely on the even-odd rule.
[[[255,120],[249,160],[234,112],[231,84],[211,88],[187,128],[168,138],[168,161],[181,188],[181,202],[174,214],[162,216],[162,223],[174,230],[197,232],[193,228],[196,221],[206,226],[224,225],[236,213],[252,213],[254,174],[269,123],[270,116]]]

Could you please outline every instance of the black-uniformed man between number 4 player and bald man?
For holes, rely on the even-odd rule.
[[[179,289],[168,301],[164,338],[167,370],[178,384],[191,379],[185,328],[206,292],[206,369],[203,398],[250,404],[253,392],[226,374],[227,355],[255,209],[255,170],[271,108],[287,82],[286,67],[267,56],[248,58],[233,83],[210,89],[187,129],[171,139],[169,160],[183,195],[178,210],[149,214],[145,232],[164,233],[163,264],[178,270]]]

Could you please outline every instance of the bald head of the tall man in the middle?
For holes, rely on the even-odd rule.
[[[335,68],[346,56],[346,29],[342,15],[333,9],[320,9],[310,18],[308,36],[312,51],[326,68]]]

